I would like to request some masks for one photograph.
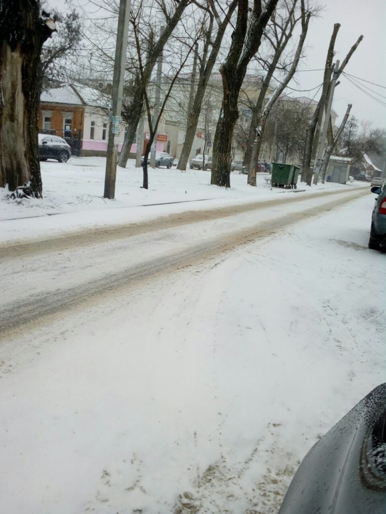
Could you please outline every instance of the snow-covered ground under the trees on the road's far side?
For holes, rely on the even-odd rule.
[[[114,200],[104,200],[104,174],[106,159],[102,157],[71,157],[66,163],[41,162],[43,200],[27,200],[22,203],[7,201],[7,191],[0,191],[0,237],[18,239],[37,237],[42,234],[58,235],[61,231],[87,227],[143,221],[160,214],[183,212],[190,209],[207,209],[226,204],[269,200],[293,195],[282,189],[270,189],[266,174],[257,175],[256,188],[247,185],[247,176],[233,172],[231,188],[210,186],[210,171],[176,168],[149,169],[149,189],[142,189],[142,168],[135,168],[133,159],[127,168],[117,168]],[[363,182],[347,186],[336,183],[308,188],[299,183],[299,194],[315,194],[321,189],[353,189],[363,187]],[[305,191],[303,191],[305,190]],[[200,200],[199,204],[195,200]],[[177,202],[177,204],[170,204]],[[183,203],[181,203],[183,202]],[[169,205],[160,205],[160,204]],[[155,205],[154,205],[155,204]],[[193,204],[193,205],[192,205]],[[144,207],[146,206],[146,207]],[[57,216],[58,213],[62,215]],[[25,230],[25,217],[31,217]],[[33,219],[32,219],[33,218]]]

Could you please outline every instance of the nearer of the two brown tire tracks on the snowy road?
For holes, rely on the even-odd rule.
[[[331,200],[323,204],[323,212],[360,198],[364,193],[367,193],[367,189],[365,191],[363,189],[356,190],[354,194],[347,195],[344,200],[342,198]],[[283,200],[280,201],[280,204],[282,202]],[[273,202],[269,202],[270,206],[272,204]],[[7,335],[11,335],[15,329],[30,329],[31,325],[40,324],[43,318],[62,315],[65,311],[72,310],[80,304],[101,301],[102,298],[106,299],[111,295],[116,296],[123,289],[135,288],[143,282],[152,281],[172,271],[207,262],[224,252],[232,251],[237,246],[270,236],[289,225],[304,221],[312,216],[321,215],[323,212],[321,213],[320,210],[312,207],[300,212],[290,213],[287,216],[271,218],[247,229],[231,232],[226,238],[222,235],[205,243],[194,243],[186,250],[128,266],[118,272],[106,273],[101,278],[81,285],[48,293],[32,294],[22,301],[5,304],[0,308],[0,338],[3,339]],[[93,241],[93,243],[95,242]]]

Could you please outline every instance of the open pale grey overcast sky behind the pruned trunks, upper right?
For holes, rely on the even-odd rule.
[[[86,5],[88,0],[73,0],[73,4]],[[348,103],[352,103],[351,115],[359,120],[370,120],[373,125],[386,128],[386,1],[385,0],[321,0],[325,8],[320,17],[314,19],[308,29],[306,39],[306,58],[296,75],[298,84],[293,81],[290,85],[296,89],[310,89],[323,81],[323,71],[310,71],[324,68],[327,48],[335,23],[340,23],[335,49],[336,59],[342,62],[348,50],[363,34],[364,39],[358,46],[345,72],[357,78],[352,80],[364,91],[341,75],[340,85],[335,90],[332,108],[338,113],[338,123],[341,121]],[[63,0],[48,0],[51,7],[63,9]],[[383,87],[379,87],[378,84]],[[371,90],[375,91],[375,93]],[[313,91],[294,92],[291,96],[306,96],[313,98]],[[367,94],[366,94],[367,93]],[[377,94],[378,93],[378,94]],[[371,98],[376,97],[381,103]],[[381,95],[381,96],[379,96]],[[319,94],[315,96],[319,99]],[[382,105],[382,103],[384,105]]]

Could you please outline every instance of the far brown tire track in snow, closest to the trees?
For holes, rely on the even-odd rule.
[[[367,188],[360,188],[362,194],[368,192]],[[358,190],[356,190],[358,192]],[[48,240],[36,240],[27,243],[0,245],[0,262],[4,260],[14,259],[29,254],[39,254],[47,252],[55,252],[61,250],[69,250],[79,246],[95,245],[99,243],[107,243],[110,241],[127,238],[138,234],[165,230],[194,223],[205,221],[214,221],[216,219],[234,216],[237,214],[248,213],[252,211],[266,209],[268,207],[290,205],[293,203],[311,200],[312,198],[323,198],[325,196],[334,196],[353,193],[353,190],[342,191],[341,189],[334,191],[323,191],[312,195],[299,196],[294,194],[290,197],[278,197],[274,200],[254,201],[248,204],[226,206],[214,209],[206,209],[199,211],[186,211],[178,214],[170,214],[158,217],[148,222],[133,223],[129,225],[119,225],[109,228],[87,229],[78,232],[66,234],[63,237],[49,238]]]

